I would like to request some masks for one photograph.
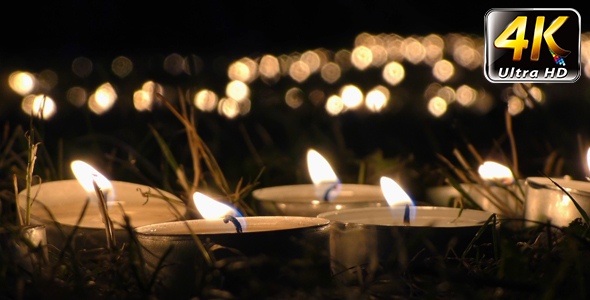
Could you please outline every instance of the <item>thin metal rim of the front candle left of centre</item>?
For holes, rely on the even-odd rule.
[[[170,237],[175,239],[189,239],[192,238],[190,233],[162,233],[162,232],[154,232],[150,231],[153,229],[157,229],[161,226],[178,226],[181,229],[186,229],[185,222],[190,225],[192,224],[199,224],[199,223],[220,223],[219,225],[224,228],[228,228],[227,230],[224,229],[222,232],[206,232],[206,233],[198,233],[195,232],[197,236],[207,236],[207,235],[230,235],[230,234],[239,234],[239,235],[249,235],[249,234],[263,234],[263,233],[281,233],[281,232],[288,232],[293,230],[303,230],[303,229],[314,229],[324,227],[330,224],[330,220],[325,218],[314,218],[314,217],[301,217],[301,216],[252,216],[252,217],[240,217],[238,219],[247,219],[246,224],[247,228],[244,229],[241,233],[236,233],[234,227],[231,224],[225,224],[222,218],[219,219],[194,219],[194,220],[186,220],[186,221],[173,221],[173,222],[162,222],[156,224],[149,224],[144,226],[139,226],[135,228],[135,232],[137,233],[138,237],[143,238],[150,238],[150,237]],[[307,224],[299,224],[298,226],[288,227],[288,228],[280,228],[276,230],[256,230],[256,224],[252,224],[252,221],[256,220],[265,220],[265,219],[297,219],[297,220],[307,220],[309,223]],[[248,222],[248,220],[250,222]],[[312,221],[313,220],[313,221]],[[215,224],[217,225],[217,224]],[[194,230],[194,228],[191,228]]]

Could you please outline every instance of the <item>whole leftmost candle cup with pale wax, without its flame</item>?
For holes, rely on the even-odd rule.
[[[156,199],[160,195],[153,188],[130,182],[112,181],[115,198],[108,212],[115,223],[115,236],[119,244],[127,240],[127,233],[117,223],[124,223],[121,207],[129,216],[133,226],[143,226],[153,223],[177,220],[170,203],[163,199]],[[146,199],[138,190],[151,191],[152,197]],[[35,202],[31,207],[31,219],[36,224],[44,224],[47,231],[47,242],[58,248],[65,246],[65,239],[52,221],[47,209],[54,216],[64,231],[67,238],[82,214],[83,207],[88,199],[87,191],[77,180],[52,181],[31,187],[31,197],[35,196]],[[168,199],[180,201],[176,196],[163,192]],[[20,207],[24,208],[27,202],[26,191],[19,194]],[[43,205],[42,205],[43,204]],[[184,215],[184,205],[172,204],[180,214]],[[105,247],[105,227],[99,213],[97,203],[90,202],[73,239],[77,248]]]

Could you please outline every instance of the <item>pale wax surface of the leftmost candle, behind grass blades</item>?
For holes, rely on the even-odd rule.
[[[142,226],[152,223],[173,221],[177,215],[166,200],[157,198],[160,194],[155,189],[147,186],[121,181],[112,181],[114,188],[114,201],[109,204],[109,216],[118,227],[117,223],[123,223],[123,211],[131,219],[133,226]],[[149,200],[141,195],[138,190],[147,192],[153,196]],[[180,201],[176,196],[161,191],[168,199]],[[79,226],[84,228],[104,228],[102,217],[98,209],[97,198],[93,193],[88,193],[77,180],[63,180],[42,183],[31,187],[31,196],[35,196],[35,202],[31,207],[32,218],[42,223],[51,223],[51,217],[41,205],[45,205],[55,220],[60,224],[74,226],[77,224],[83,207],[88,198],[92,199],[86,208],[86,212]],[[20,207],[26,206],[26,191],[19,194]],[[184,205],[173,204],[181,215],[184,215]]]

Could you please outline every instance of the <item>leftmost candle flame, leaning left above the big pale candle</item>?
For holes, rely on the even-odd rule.
[[[81,160],[73,161],[70,166],[72,172],[74,172],[74,176],[76,176],[80,185],[82,185],[86,192],[88,192],[91,199],[96,199],[96,192],[94,190],[94,184],[92,183],[95,181],[98,187],[102,190],[107,205],[110,206],[113,203],[115,199],[115,189],[113,188],[113,184],[106,177]]]

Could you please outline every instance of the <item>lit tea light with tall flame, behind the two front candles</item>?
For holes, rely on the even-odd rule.
[[[315,150],[307,154],[313,184],[262,188],[252,192],[260,215],[315,217],[322,212],[387,206],[378,186],[342,184]]]

